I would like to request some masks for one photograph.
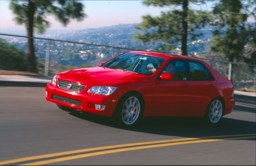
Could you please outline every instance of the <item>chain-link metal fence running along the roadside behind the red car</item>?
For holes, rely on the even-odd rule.
[[[14,38],[11,44],[26,48],[27,36],[0,34],[0,36]],[[9,40],[10,41],[10,40]],[[38,62],[38,71],[44,75],[55,75],[72,69],[93,67],[108,59],[129,50],[121,46],[107,46],[96,43],[82,43],[34,37],[35,52]],[[1,49],[1,43],[0,43]],[[12,51],[12,50],[10,50]],[[224,78],[232,80],[236,90],[256,91],[256,65],[227,62],[216,59],[199,58],[211,65]],[[8,63],[11,57],[1,60],[0,70],[17,70],[15,65]]]

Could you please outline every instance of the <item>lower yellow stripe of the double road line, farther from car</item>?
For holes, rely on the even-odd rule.
[[[78,159],[78,158],[97,156],[97,155],[102,155],[102,154],[110,154],[110,153],[124,152],[124,151],[130,151],[130,150],[139,150],[139,149],[146,149],[146,148],[156,148],[156,147],[164,147],[164,146],[172,146],[172,145],[182,145],[182,144],[189,144],[189,143],[222,141],[222,140],[228,140],[228,139],[248,139],[248,138],[255,138],[255,136],[251,136],[251,137],[233,137],[233,138],[225,138],[225,139],[204,139],[204,140],[198,140],[198,141],[185,141],[185,142],[158,144],[158,145],[147,145],[147,146],[132,147],[132,148],[122,148],[122,149],[115,149],[115,150],[105,150],[105,151],[93,152],[93,153],[89,153],[89,154],[80,154],[80,155],[76,155],[76,156],[62,157],[62,158],[56,158],[56,159],[45,160],[45,161],[38,161],[38,162],[33,162],[33,163],[26,163],[24,165],[43,165],[43,164],[60,162],[60,161],[67,161],[67,160],[74,160],[74,159]]]

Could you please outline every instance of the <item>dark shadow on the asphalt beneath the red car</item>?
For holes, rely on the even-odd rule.
[[[76,111],[69,113],[77,118],[123,130],[178,137],[208,137],[255,134],[256,123],[223,117],[217,124],[207,123],[201,117],[144,117],[136,126],[123,127],[112,117]],[[216,138],[218,139],[218,138]],[[248,139],[248,140],[255,140]]]

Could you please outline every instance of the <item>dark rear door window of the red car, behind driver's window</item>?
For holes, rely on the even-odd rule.
[[[210,71],[200,62],[189,61],[190,80],[194,81],[208,81],[214,80]]]

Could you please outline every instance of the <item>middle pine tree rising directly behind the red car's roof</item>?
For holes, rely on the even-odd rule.
[[[173,7],[173,10],[161,12],[161,16],[152,17],[150,15],[142,16],[142,24],[135,28],[144,30],[134,36],[143,42],[159,41],[165,45],[158,51],[169,51],[181,43],[182,55],[187,55],[188,40],[195,40],[202,34],[196,34],[195,31],[201,29],[210,21],[210,13],[201,10],[190,10],[189,4],[202,5],[204,1],[199,0],[146,0],[143,1],[147,6]],[[179,7],[181,6],[181,9]],[[188,39],[188,34],[191,38]]]

